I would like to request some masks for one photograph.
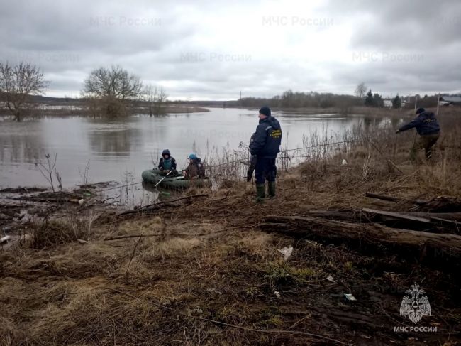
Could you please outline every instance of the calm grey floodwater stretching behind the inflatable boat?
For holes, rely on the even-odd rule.
[[[303,135],[342,134],[364,117],[331,114],[274,114],[282,124],[285,148],[302,146]],[[238,149],[248,145],[257,126],[257,111],[210,108],[210,112],[170,114],[167,117],[137,115],[107,120],[87,117],[44,117],[17,123],[0,120],[0,188],[48,187],[38,163],[45,155],[57,155],[56,169],[64,188],[84,181],[89,163],[89,183],[140,181],[140,174],[157,165],[162,149],[169,148],[178,168],[189,153],[206,156],[213,148]],[[384,121],[384,119],[379,119]]]

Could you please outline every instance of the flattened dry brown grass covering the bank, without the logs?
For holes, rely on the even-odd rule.
[[[459,121],[456,114],[445,115],[440,121],[447,130],[431,163],[411,164],[411,135],[396,136],[389,129],[373,137],[376,147],[362,141],[339,152],[316,151],[282,174],[277,198],[265,205],[254,205],[251,185],[238,181],[174,212],[93,225],[84,244],[76,239],[87,239],[87,219],[38,225],[33,247],[0,253],[0,345],[327,343],[296,332],[356,345],[389,345],[389,340],[409,345],[408,337],[418,335],[399,335],[392,328],[402,322],[399,303],[413,281],[423,281],[437,311],[427,323],[441,330],[425,335],[425,341],[459,342],[457,278],[392,256],[376,258],[262,233],[256,226],[270,214],[376,203],[411,207],[367,199],[367,190],[406,198],[460,196]],[[348,165],[341,165],[343,158]],[[232,181],[230,176],[224,180]],[[104,240],[135,234],[159,235]],[[277,249],[288,245],[294,252],[284,262]],[[328,275],[338,283],[326,281]],[[343,293],[353,293],[358,301],[344,301]],[[355,315],[351,319],[348,313]],[[263,331],[274,328],[287,332]]]

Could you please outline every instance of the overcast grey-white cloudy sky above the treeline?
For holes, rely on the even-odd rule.
[[[76,97],[118,64],[170,99],[461,91],[461,1],[1,1],[0,58]]]

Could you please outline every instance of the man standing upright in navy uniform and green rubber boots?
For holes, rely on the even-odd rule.
[[[250,143],[251,155],[257,156],[255,166],[256,177],[256,202],[264,202],[266,196],[267,178],[267,197],[275,196],[275,160],[282,143],[282,128],[277,119],[272,117],[269,107],[260,109],[260,124],[256,128],[254,139]]]

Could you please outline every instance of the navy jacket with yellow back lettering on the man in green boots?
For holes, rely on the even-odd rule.
[[[255,138],[250,143],[251,155],[264,158],[276,158],[282,143],[282,128],[274,117],[260,120],[256,128]]]

